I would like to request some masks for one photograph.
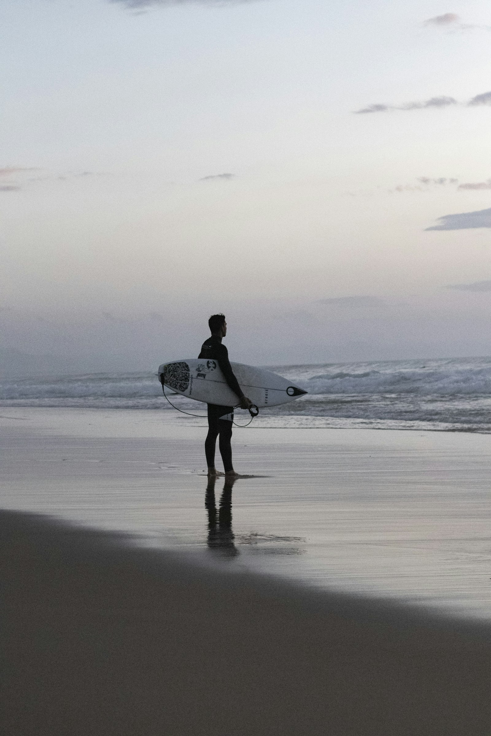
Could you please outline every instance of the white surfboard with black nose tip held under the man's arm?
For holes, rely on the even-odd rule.
[[[230,365],[242,391],[258,408],[285,404],[307,393],[287,378],[269,370],[241,363]],[[190,399],[222,406],[239,404],[239,397],[228,386],[217,361],[186,358],[163,363],[158,369],[158,379],[162,386]]]

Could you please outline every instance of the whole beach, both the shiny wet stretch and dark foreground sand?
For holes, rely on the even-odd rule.
[[[490,733],[488,436],[1,414],[9,735]]]

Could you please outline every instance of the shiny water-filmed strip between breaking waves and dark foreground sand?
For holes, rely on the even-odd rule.
[[[237,570],[491,618],[489,435],[236,430],[236,469],[261,477],[230,488],[203,475],[199,423],[2,409],[1,506],[130,531]]]

